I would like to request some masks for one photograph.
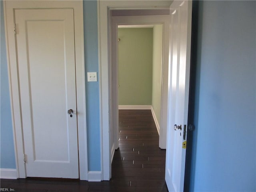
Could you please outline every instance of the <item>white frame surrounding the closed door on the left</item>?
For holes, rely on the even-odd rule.
[[[78,153],[80,180],[88,180],[86,102],[84,74],[84,27],[82,1],[4,1],[6,52],[9,74],[10,102],[12,110],[12,128],[16,160],[17,178],[26,178],[24,163],[24,144],[22,136],[22,115],[18,64],[16,60],[16,40],[14,35],[14,9],[26,8],[73,8],[75,29],[76,58],[76,96],[78,116]],[[18,26],[17,26],[18,28]]]

